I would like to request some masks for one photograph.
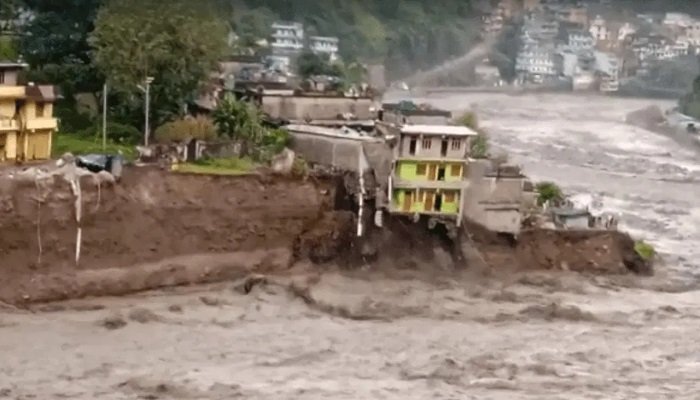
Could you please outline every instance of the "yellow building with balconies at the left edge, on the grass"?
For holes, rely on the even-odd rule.
[[[56,91],[49,85],[21,85],[26,64],[0,62],[0,162],[51,158],[58,121]]]

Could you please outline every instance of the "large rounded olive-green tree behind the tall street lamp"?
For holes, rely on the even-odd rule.
[[[183,114],[226,53],[228,32],[216,2],[111,0],[97,15],[90,44],[95,64],[125,100],[140,101],[139,85],[155,78],[151,106],[162,124]]]

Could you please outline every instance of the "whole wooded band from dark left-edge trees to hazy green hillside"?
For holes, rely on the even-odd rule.
[[[489,1],[0,0],[0,59],[22,59],[28,80],[59,86],[63,132],[100,132],[108,83],[109,135],[136,141],[146,77],[151,124],[178,121],[217,61],[268,39],[273,22],[337,36],[345,65],[384,64],[400,78],[464,54]]]

